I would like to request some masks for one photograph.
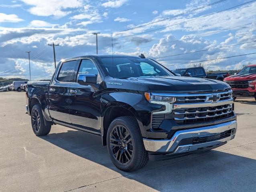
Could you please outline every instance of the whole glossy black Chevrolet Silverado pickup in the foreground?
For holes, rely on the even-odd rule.
[[[81,56],[59,62],[51,82],[28,82],[37,136],[60,124],[95,134],[119,169],[216,148],[233,139],[232,90],[175,76],[144,56]]]

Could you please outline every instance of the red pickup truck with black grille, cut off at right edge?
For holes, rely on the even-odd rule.
[[[233,98],[254,97],[256,100],[256,64],[244,67],[238,74],[226,77],[233,90]]]

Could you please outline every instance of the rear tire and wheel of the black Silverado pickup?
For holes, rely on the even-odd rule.
[[[51,125],[45,125],[42,109],[38,104],[35,104],[31,110],[31,125],[37,136],[47,135],[51,131]]]

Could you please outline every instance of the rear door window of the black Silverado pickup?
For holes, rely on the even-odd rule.
[[[59,71],[57,80],[60,82],[75,82],[74,72],[77,65],[77,60],[64,62]]]

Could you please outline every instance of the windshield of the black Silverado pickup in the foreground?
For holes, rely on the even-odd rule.
[[[99,60],[108,74],[114,78],[173,76],[169,70],[146,58],[99,58]]]

